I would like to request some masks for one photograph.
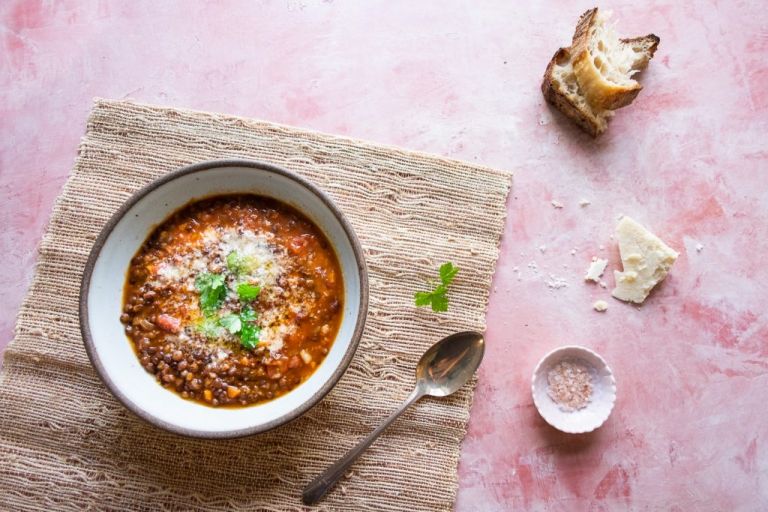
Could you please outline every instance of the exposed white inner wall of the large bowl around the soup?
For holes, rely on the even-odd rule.
[[[212,408],[160,386],[142,368],[120,323],[123,286],[131,258],[152,229],[194,199],[254,193],[285,202],[309,217],[336,250],[344,278],[344,310],[336,341],[317,370],[300,386],[270,402],[242,408]],[[352,242],[328,206],[300,183],[251,167],[207,169],[171,180],[140,199],[106,239],[96,260],[87,296],[93,356],[113,385],[139,409],[196,434],[226,433],[265,425],[310,400],[332,377],[352,342],[360,310],[360,273]]]

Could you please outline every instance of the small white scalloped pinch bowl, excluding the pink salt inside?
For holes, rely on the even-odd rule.
[[[547,393],[549,370],[561,361],[575,361],[590,369],[592,398],[586,407],[576,411],[564,411]],[[616,379],[605,360],[592,350],[578,345],[568,345],[545,355],[531,379],[533,403],[544,420],[556,429],[568,434],[585,434],[600,427],[611,415],[616,402]]]

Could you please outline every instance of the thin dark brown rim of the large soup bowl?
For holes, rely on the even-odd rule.
[[[157,188],[173,180],[176,180],[183,176],[187,176],[189,174],[194,174],[202,171],[209,171],[211,169],[216,169],[221,167],[249,167],[251,169],[257,169],[259,171],[266,171],[266,172],[278,174],[290,180],[295,181],[296,183],[298,183],[299,185],[307,189],[309,192],[314,194],[318,199],[320,199],[325,204],[325,206],[331,211],[331,213],[336,217],[337,221],[339,222],[342,229],[344,230],[347,238],[349,239],[350,244],[352,245],[352,251],[355,256],[355,263],[356,263],[357,271],[360,278],[360,300],[359,300],[358,315],[355,321],[355,329],[352,333],[352,338],[350,340],[350,343],[349,343],[349,346],[347,347],[346,352],[344,353],[341,363],[334,370],[330,378],[323,384],[323,386],[319,390],[317,390],[312,396],[310,396],[308,400],[303,402],[301,405],[299,405],[295,409],[292,409],[287,413],[283,414],[282,416],[275,418],[274,420],[268,423],[265,423],[263,425],[257,425],[254,427],[247,427],[243,429],[224,431],[224,432],[206,432],[201,430],[179,427],[177,425],[173,425],[159,419],[158,417],[148,413],[146,410],[144,410],[141,406],[139,406],[135,402],[129,400],[123,394],[123,392],[115,385],[115,383],[112,381],[111,377],[109,376],[109,373],[107,372],[106,368],[104,367],[101,360],[99,359],[98,354],[96,353],[93,338],[91,336],[91,330],[88,325],[88,318],[89,318],[88,294],[90,291],[93,269],[96,265],[96,261],[98,260],[101,254],[101,250],[104,248],[104,244],[106,240],[109,238],[110,234],[112,233],[112,231],[114,230],[118,222],[122,220],[125,214],[137,202],[139,202],[141,199],[143,199],[145,196],[147,196]],[[195,198],[190,198],[190,200],[194,200],[194,199]],[[275,199],[280,200],[280,198],[275,198]],[[301,211],[300,207],[297,207],[296,205],[292,205],[292,206],[294,208],[297,208],[299,211]],[[96,238],[93,244],[93,247],[91,248],[91,252],[88,256],[88,261],[86,262],[85,269],[83,271],[83,277],[81,280],[81,285],[80,285],[80,299],[79,299],[80,332],[83,337],[83,344],[85,345],[85,351],[88,354],[88,359],[90,359],[91,364],[96,369],[96,373],[98,374],[101,381],[106,385],[109,391],[129,411],[133,412],[136,416],[138,416],[142,420],[176,434],[180,434],[187,437],[201,438],[201,439],[231,439],[231,438],[237,438],[237,437],[250,436],[254,434],[260,434],[260,433],[272,430],[274,428],[277,428],[281,425],[284,425],[300,417],[309,409],[314,407],[318,402],[320,402],[320,400],[322,400],[325,397],[325,395],[327,395],[331,391],[331,389],[333,389],[333,387],[338,383],[341,376],[347,371],[347,368],[349,368],[349,365],[352,362],[352,358],[354,357],[355,352],[357,351],[357,347],[360,344],[360,338],[363,334],[363,329],[365,327],[365,320],[367,315],[368,315],[368,269],[365,263],[365,256],[363,253],[362,246],[360,245],[360,241],[358,240],[357,235],[355,234],[354,230],[352,229],[352,226],[349,224],[347,219],[341,213],[339,208],[333,203],[330,197],[328,197],[328,195],[325,194],[325,192],[323,192],[316,185],[312,184],[305,178],[302,178],[297,174],[291,171],[288,171],[282,167],[279,167],[273,164],[268,164],[265,162],[255,161],[255,160],[245,160],[245,159],[208,160],[205,162],[188,165],[180,169],[177,169],[175,171],[171,171],[168,174],[163,175],[162,177],[152,181],[151,183],[145,185],[141,189],[134,192],[134,194],[131,197],[129,197],[128,200],[126,200],[120,206],[120,208],[112,215],[112,217],[110,217],[109,221],[102,228],[101,233]],[[256,405],[255,407],[258,407],[258,405]]]

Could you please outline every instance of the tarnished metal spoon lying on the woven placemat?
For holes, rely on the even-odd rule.
[[[480,366],[485,352],[485,340],[479,332],[451,334],[427,350],[416,367],[416,387],[410,396],[384,423],[368,434],[342,458],[323,471],[304,489],[302,500],[307,505],[317,503],[347,468],[397,419],[411,404],[425,395],[444,397],[461,388]]]

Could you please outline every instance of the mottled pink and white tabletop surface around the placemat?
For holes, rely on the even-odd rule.
[[[94,96],[477,161],[516,177],[457,509],[765,510],[768,11],[603,5],[661,46],[593,142],[539,92],[591,5],[2,2],[0,347]],[[621,213],[681,253],[640,308],[581,280],[593,255],[616,268]],[[558,434],[531,403],[533,366],[566,343],[598,350],[618,380],[613,416],[587,436]]]

